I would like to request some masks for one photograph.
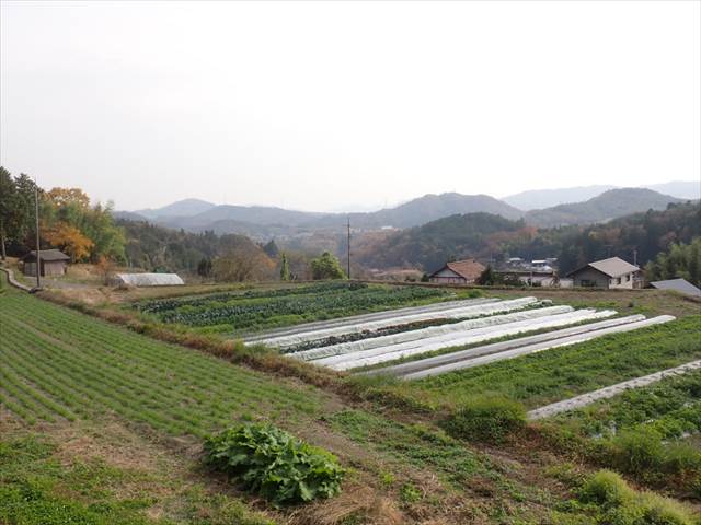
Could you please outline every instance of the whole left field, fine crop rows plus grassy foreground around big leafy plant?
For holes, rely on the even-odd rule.
[[[390,523],[418,523],[410,517],[412,512],[441,515],[446,512],[441,501],[452,502],[447,508],[450,512],[486,516],[495,512],[494,503],[470,488],[478,478],[481,486],[486,480],[494,483],[491,490],[498,497],[498,505],[519,494],[518,503],[509,505],[507,515],[512,516],[537,520],[559,498],[549,491],[528,489],[519,476],[507,476],[498,467],[501,459],[470,451],[430,424],[420,430],[392,423],[303,383],[269,377],[192,349],[156,341],[27,294],[13,290],[0,294],[0,451],[3,457],[12,458],[4,464],[7,470],[0,472],[1,490],[12,497],[5,501],[14,501],[0,506],[5,513],[0,516],[21,516],[32,523],[32,513],[39,511],[20,501],[26,483],[41,480],[37,509],[50,506],[67,512],[56,514],[55,523],[64,523],[66,516],[84,523],[203,523],[196,521],[196,511],[182,509],[179,501],[202,505],[217,520],[244,515],[248,522],[240,518],[233,523],[263,523],[253,511],[242,510],[241,494],[216,482],[212,486],[196,467],[197,443],[204,435],[237,420],[258,418],[329,447],[342,462],[354,466],[346,500],[330,502],[347,505],[348,512],[371,515],[375,511],[368,505],[382,494],[382,505],[391,515],[406,516]],[[367,443],[352,425],[340,423],[348,421],[348,413],[393,429],[388,441]],[[68,442],[76,447],[81,444],[80,453],[64,450],[68,434]],[[81,459],[85,443],[93,453],[95,448],[102,453],[87,464]],[[418,444],[422,448],[415,448]],[[139,460],[139,468],[114,470],[110,462],[117,448],[129,458],[140,457],[137,451],[153,451],[169,466],[150,465],[145,474]],[[440,459],[444,455],[462,457],[463,464]],[[119,456],[119,463],[123,459]],[[172,462],[175,464],[170,465]],[[35,476],[18,478],[12,474],[26,468]],[[115,480],[107,482],[101,474],[104,470]],[[166,482],[164,470],[176,471],[180,477]],[[66,483],[72,483],[67,480],[80,472],[82,478],[67,490]],[[105,483],[107,487],[103,487]],[[154,489],[159,483],[169,489]],[[200,487],[199,492],[187,489],[192,483]],[[129,494],[138,494],[125,498],[122,491],[127,489],[123,485]],[[223,495],[215,497],[217,491],[223,491]],[[361,494],[360,500],[357,494]],[[279,523],[326,523],[309,517],[324,515],[323,503],[311,506],[308,514],[292,515],[261,509],[261,504],[253,506]],[[16,514],[20,510],[25,514]],[[153,512],[158,520],[151,520]]]

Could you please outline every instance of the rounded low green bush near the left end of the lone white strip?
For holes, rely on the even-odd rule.
[[[501,443],[526,425],[524,406],[505,397],[478,397],[455,411],[444,428],[453,438]]]

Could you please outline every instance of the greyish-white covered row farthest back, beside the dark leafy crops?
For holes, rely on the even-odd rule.
[[[383,312],[375,312],[371,314],[352,315],[348,317],[340,317],[337,319],[314,320],[301,325],[288,326],[285,328],[276,328],[267,330],[263,334],[252,334],[245,338],[246,343],[260,342],[264,339],[274,337],[291,336],[294,334],[302,334],[306,331],[314,331],[322,328],[336,328],[340,326],[356,325],[369,320],[382,320],[390,317],[399,317],[400,315],[421,314],[426,312],[440,312],[444,310],[452,310],[462,306],[476,306],[478,304],[495,303],[498,299],[462,299],[455,301],[444,301],[441,303],[425,304],[423,306],[406,306],[403,308],[386,310]]]

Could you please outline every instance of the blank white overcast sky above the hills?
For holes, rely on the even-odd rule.
[[[0,9],[0,162],[119,209],[701,173],[696,0]]]

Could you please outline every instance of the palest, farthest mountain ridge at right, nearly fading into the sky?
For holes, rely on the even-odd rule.
[[[670,195],[678,199],[701,199],[701,180],[674,180],[671,183],[653,184],[641,187],[652,189],[660,194]],[[616,188],[618,188],[618,186],[598,185],[575,186],[572,188],[559,189],[531,189],[528,191],[521,191],[520,194],[509,195],[508,197],[504,197],[502,200],[515,208],[518,208],[519,210],[541,210],[543,208],[552,208],[553,206],[583,202],[594,197],[598,197],[609,189]]]

